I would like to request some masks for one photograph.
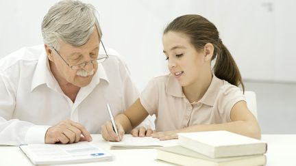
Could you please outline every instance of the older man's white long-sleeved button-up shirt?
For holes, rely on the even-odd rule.
[[[101,52],[101,50],[100,50]],[[0,145],[44,143],[50,126],[79,122],[93,134],[138,98],[125,63],[116,51],[98,65],[93,80],[79,89],[75,102],[66,96],[49,68],[43,45],[25,47],[0,60]],[[147,122],[148,125],[153,125]]]

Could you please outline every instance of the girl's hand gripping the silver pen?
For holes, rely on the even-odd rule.
[[[103,139],[105,139],[106,141],[121,141],[121,139],[123,139],[125,131],[123,130],[123,126],[121,126],[121,124],[116,123],[116,128],[119,135],[116,135],[116,133],[114,132],[112,123],[110,121],[103,124],[101,126],[101,135]]]

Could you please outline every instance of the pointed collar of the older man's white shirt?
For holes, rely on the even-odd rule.
[[[103,79],[109,83],[105,68],[102,64],[98,64],[98,70],[95,73],[92,81],[89,85],[97,85],[100,82],[100,79]],[[56,79],[53,77],[53,74],[49,67],[49,59],[45,50],[42,51],[37,65],[36,70],[34,71],[34,76],[31,84],[31,92],[38,87],[39,85],[47,84],[48,87],[55,88],[58,86]],[[88,85],[87,85],[88,86]]]

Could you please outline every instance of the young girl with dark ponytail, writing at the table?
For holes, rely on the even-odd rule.
[[[210,21],[197,14],[175,18],[162,43],[170,74],[152,79],[140,98],[116,115],[119,136],[111,122],[103,124],[104,139],[120,141],[149,114],[156,115],[156,131],[136,128],[132,135],[165,140],[182,132],[228,130],[260,139],[258,122],[238,87],[244,91],[238,67]]]

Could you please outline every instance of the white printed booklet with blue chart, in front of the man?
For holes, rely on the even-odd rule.
[[[21,150],[34,165],[88,163],[112,160],[112,154],[97,143],[80,141],[71,144],[29,144],[21,145]]]

